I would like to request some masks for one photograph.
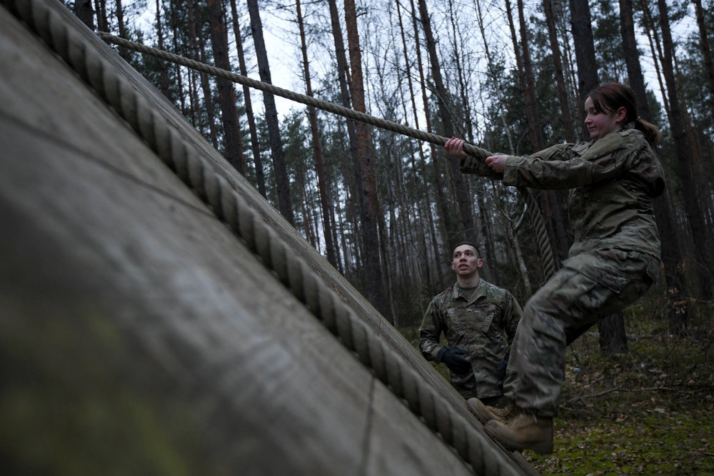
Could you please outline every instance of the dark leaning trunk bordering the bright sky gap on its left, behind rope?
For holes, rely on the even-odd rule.
[[[258,0],[248,0],[248,11],[251,14],[251,32],[253,34],[253,44],[256,46],[256,57],[258,59],[258,72],[263,83],[272,84],[270,65],[268,64],[268,54],[266,52],[265,39],[263,39],[263,24],[261,23]],[[285,219],[293,225],[293,204],[290,198],[290,181],[288,171],[283,157],[283,142],[280,138],[280,127],[278,126],[278,111],[275,106],[275,98],[270,93],[263,93],[263,103],[266,108],[266,123],[268,123],[268,136],[273,153],[273,173],[275,175],[276,189],[278,195],[278,211]]]

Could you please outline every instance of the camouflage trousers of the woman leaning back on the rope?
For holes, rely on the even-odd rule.
[[[558,416],[567,343],[638,300],[658,269],[658,258],[614,248],[565,260],[526,303],[511,348],[506,396],[533,415]]]

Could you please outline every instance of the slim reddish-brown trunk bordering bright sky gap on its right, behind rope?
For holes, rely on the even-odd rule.
[[[298,14],[298,26],[300,29],[300,46],[303,53],[303,72],[305,74],[305,88],[308,96],[313,95],[312,84],[310,81],[310,65],[308,63],[308,46],[305,41],[305,28],[303,26],[303,14],[300,9],[300,0],[296,0],[296,10]],[[325,247],[327,252],[327,260],[337,266],[337,258],[335,255],[335,244],[332,242],[332,228],[330,227],[330,196],[326,186],[325,159],[323,158],[322,143],[320,141],[320,133],[317,128],[317,113],[315,108],[308,106],[308,120],[310,121],[310,132],[313,140],[313,156],[315,157],[315,168],[317,171],[318,191],[320,192],[320,206],[322,208],[322,226],[325,238]]]

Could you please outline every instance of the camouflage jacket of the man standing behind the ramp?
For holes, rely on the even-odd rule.
[[[503,392],[496,367],[511,350],[523,311],[507,290],[481,279],[471,296],[457,283],[429,304],[419,329],[419,348],[427,360],[436,360],[442,346],[441,333],[449,348],[468,350],[472,372],[451,373],[451,385],[463,397],[495,397]],[[504,332],[506,336],[504,336]]]

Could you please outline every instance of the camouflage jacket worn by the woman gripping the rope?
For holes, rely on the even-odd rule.
[[[466,158],[462,171],[480,173]],[[569,218],[575,233],[570,257],[619,248],[660,258],[653,198],[665,188],[657,154],[629,123],[598,141],[558,144],[532,156],[509,156],[503,183],[570,191]]]

